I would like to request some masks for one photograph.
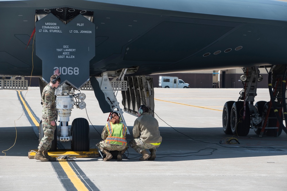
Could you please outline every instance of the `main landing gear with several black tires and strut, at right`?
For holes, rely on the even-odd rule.
[[[285,119],[287,120],[286,84],[284,80],[282,81],[284,70],[281,78],[278,78],[278,76],[274,77],[274,81],[276,78],[277,81],[272,89],[271,76],[278,74],[273,71],[275,67],[272,66],[270,69],[268,80],[271,101],[258,101],[255,105],[253,103],[254,97],[257,95],[257,82],[260,82],[263,77],[259,74],[259,67],[243,68],[244,74],[240,77],[240,80],[244,88],[240,92],[238,101],[228,101],[223,107],[222,126],[225,134],[246,136],[250,129],[253,129],[259,137],[262,137],[263,134],[277,137],[282,133],[282,130],[287,133],[287,129],[283,125],[282,114],[283,108],[285,109]],[[272,72],[274,73],[272,74]],[[284,76],[283,79],[286,79],[286,72]],[[279,82],[282,82],[282,87],[280,87],[281,83]]]

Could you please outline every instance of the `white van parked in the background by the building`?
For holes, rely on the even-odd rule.
[[[171,76],[159,76],[158,85],[160,88],[189,88],[189,84]]]

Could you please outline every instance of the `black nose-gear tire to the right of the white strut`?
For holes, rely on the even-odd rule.
[[[89,151],[90,149],[90,127],[87,119],[76,118],[72,122],[72,151]]]

